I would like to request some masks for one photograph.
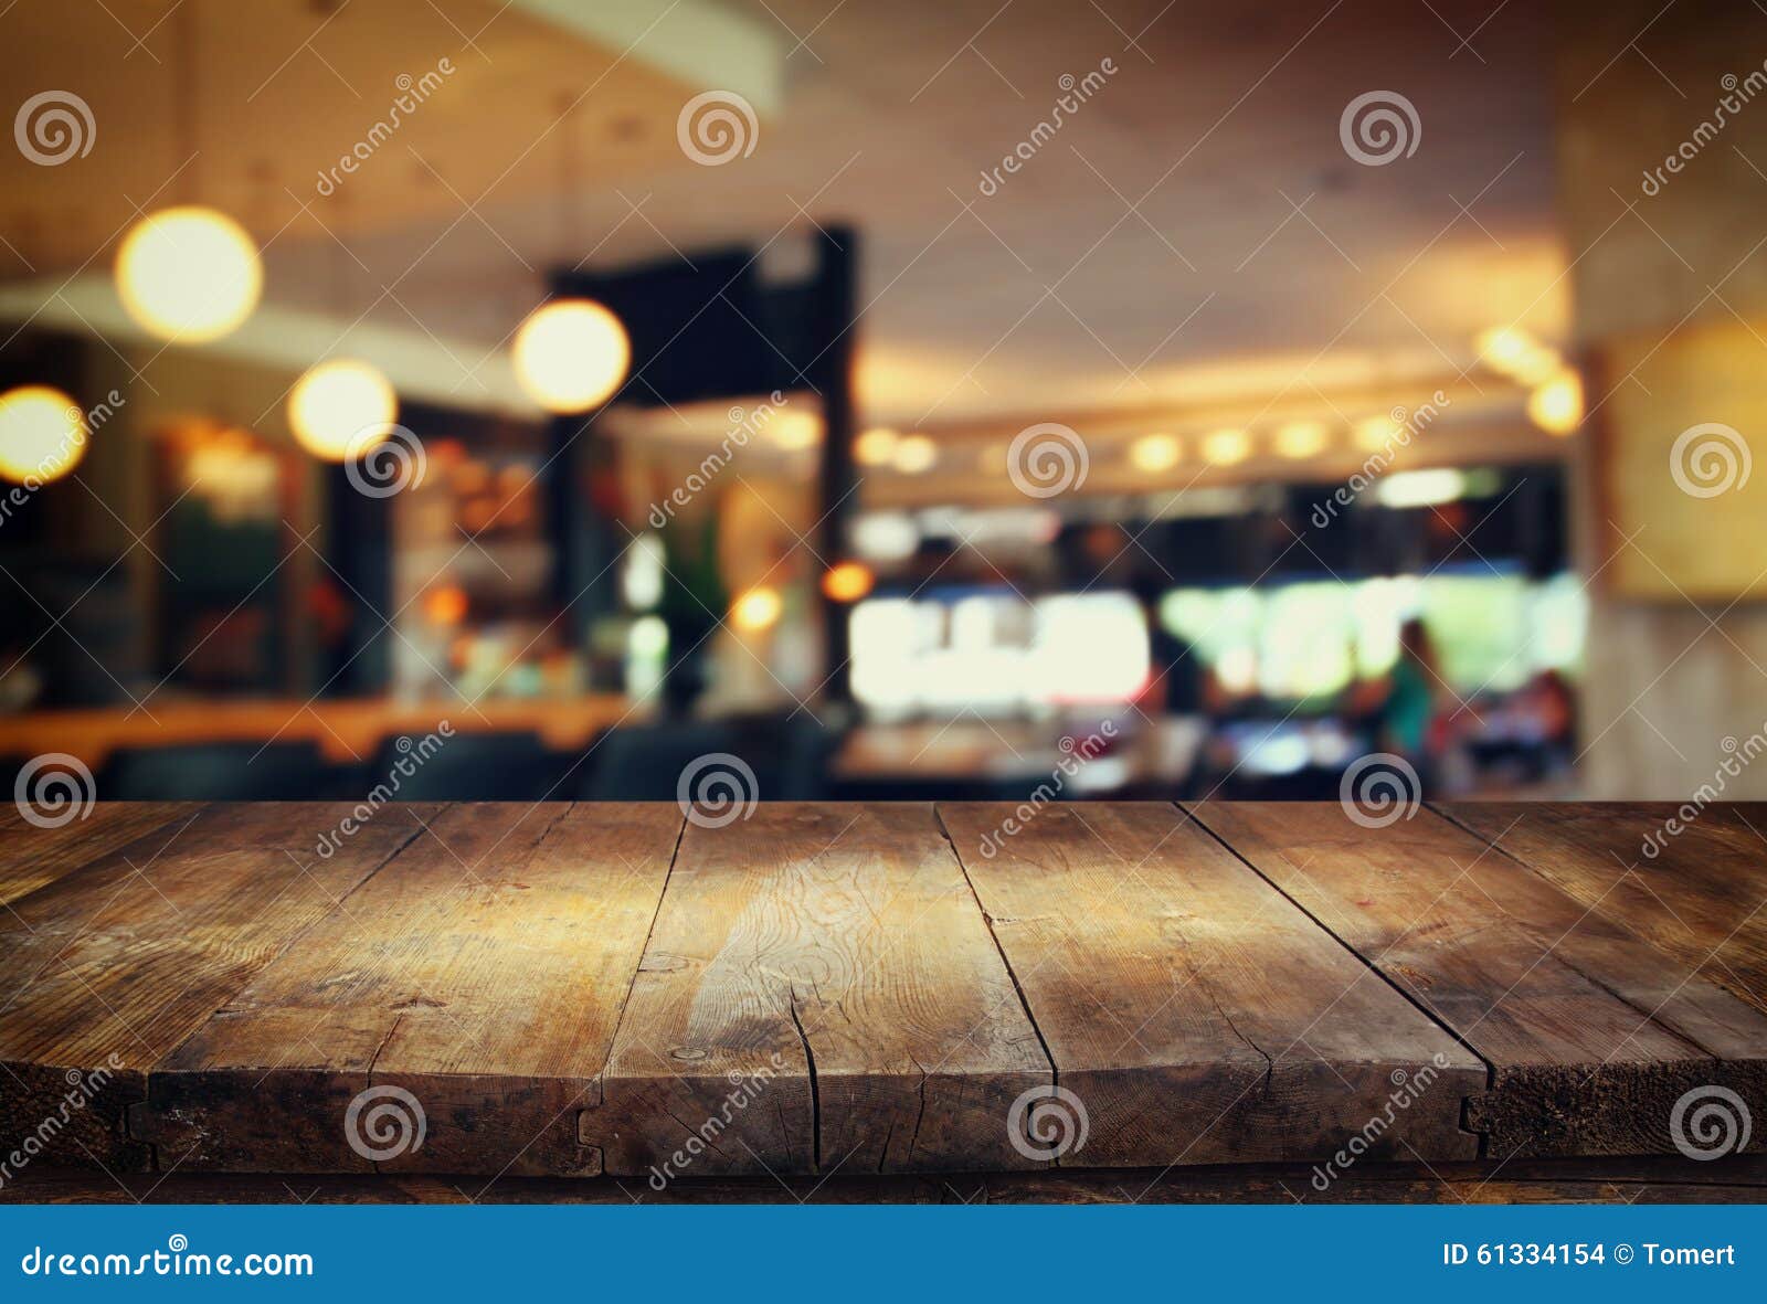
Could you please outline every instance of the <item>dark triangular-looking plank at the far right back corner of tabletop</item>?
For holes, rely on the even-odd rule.
[[[1438,809],[1767,1012],[1767,804],[1714,804],[1691,822],[1672,802]]]

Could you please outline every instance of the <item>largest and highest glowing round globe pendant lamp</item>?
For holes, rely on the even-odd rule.
[[[263,263],[246,228],[224,212],[161,208],[124,237],[117,293],[154,336],[203,345],[251,316],[263,293]]]

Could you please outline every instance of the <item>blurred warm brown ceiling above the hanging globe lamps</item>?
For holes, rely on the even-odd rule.
[[[707,28],[671,34],[682,14],[661,0],[608,5],[636,42],[560,25],[550,0],[16,0],[0,14],[9,111],[72,90],[97,136],[57,168],[4,152],[0,274],[102,269],[133,205],[189,193],[269,242],[272,302],[376,304],[389,325],[491,348],[560,260],[774,237],[769,260],[788,258],[811,219],[845,219],[866,239],[866,417],[935,428],[1428,387],[1472,362],[1486,325],[1562,336],[1550,34],[1532,7],[696,4],[749,46],[765,34],[785,80],[753,155],[716,168],[684,157],[677,113],[719,85],[721,49],[753,80],[753,48],[714,41],[684,74],[682,39]],[[180,134],[186,23],[200,102]],[[398,78],[442,58],[454,74],[318,194]],[[1060,78],[1104,58],[1104,85],[982,194]],[[1378,168],[1338,138],[1343,106],[1376,88],[1421,120],[1415,154]],[[200,154],[173,178],[191,136]]]

